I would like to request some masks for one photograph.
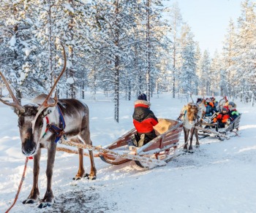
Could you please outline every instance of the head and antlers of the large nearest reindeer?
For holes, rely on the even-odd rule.
[[[61,44],[64,50],[63,44]],[[34,98],[34,102],[36,104],[26,104],[22,106],[20,101],[14,96],[12,90],[10,88],[9,83],[7,82],[4,74],[0,71],[0,76],[4,80],[7,89],[9,90],[10,95],[12,96],[13,102],[4,101],[0,98],[0,101],[4,104],[9,105],[10,107],[14,107],[15,113],[18,115],[18,127],[20,130],[20,139],[21,139],[21,150],[24,155],[30,156],[37,153],[37,149],[39,147],[39,139],[42,134],[43,128],[43,117],[45,116],[45,112],[49,107],[56,107],[58,102],[57,93],[55,93],[55,98],[50,98],[53,93],[53,90],[56,88],[57,82],[61,78],[61,75],[64,73],[66,69],[67,59],[66,53],[64,50],[64,68],[59,74],[56,82],[51,88],[50,93],[48,95],[42,94]],[[42,100],[42,101],[40,101]],[[49,103],[50,102],[50,103]]]

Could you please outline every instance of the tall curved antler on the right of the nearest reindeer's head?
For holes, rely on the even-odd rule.
[[[66,52],[65,52],[65,48],[64,45],[61,43],[61,46],[63,48],[63,53],[64,53],[64,67],[61,71],[61,73],[59,74],[59,77],[57,78],[57,80],[54,82],[53,88],[51,88],[48,96],[45,98],[45,101],[40,105],[40,107],[37,109],[37,115],[34,117],[34,120],[32,120],[32,131],[34,133],[34,125],[36,124],[37,121],[37,117],[41,114],[41,112],[45,109],[47,109],[48,107],[55,107],[58,103],[58,97],[57,97],[57,93],[55,93],[55,97],[54,99],[54,103],[53,104],[49,104],[48,101],[50,99],[50,96],[53,94],[53,90],[56,88],[57,83],[59,82],[59,80],[61,79],[62,74],[64,74],[64,71],[66,70],[66,66],[67,66],[67,58],[66,58]]]

